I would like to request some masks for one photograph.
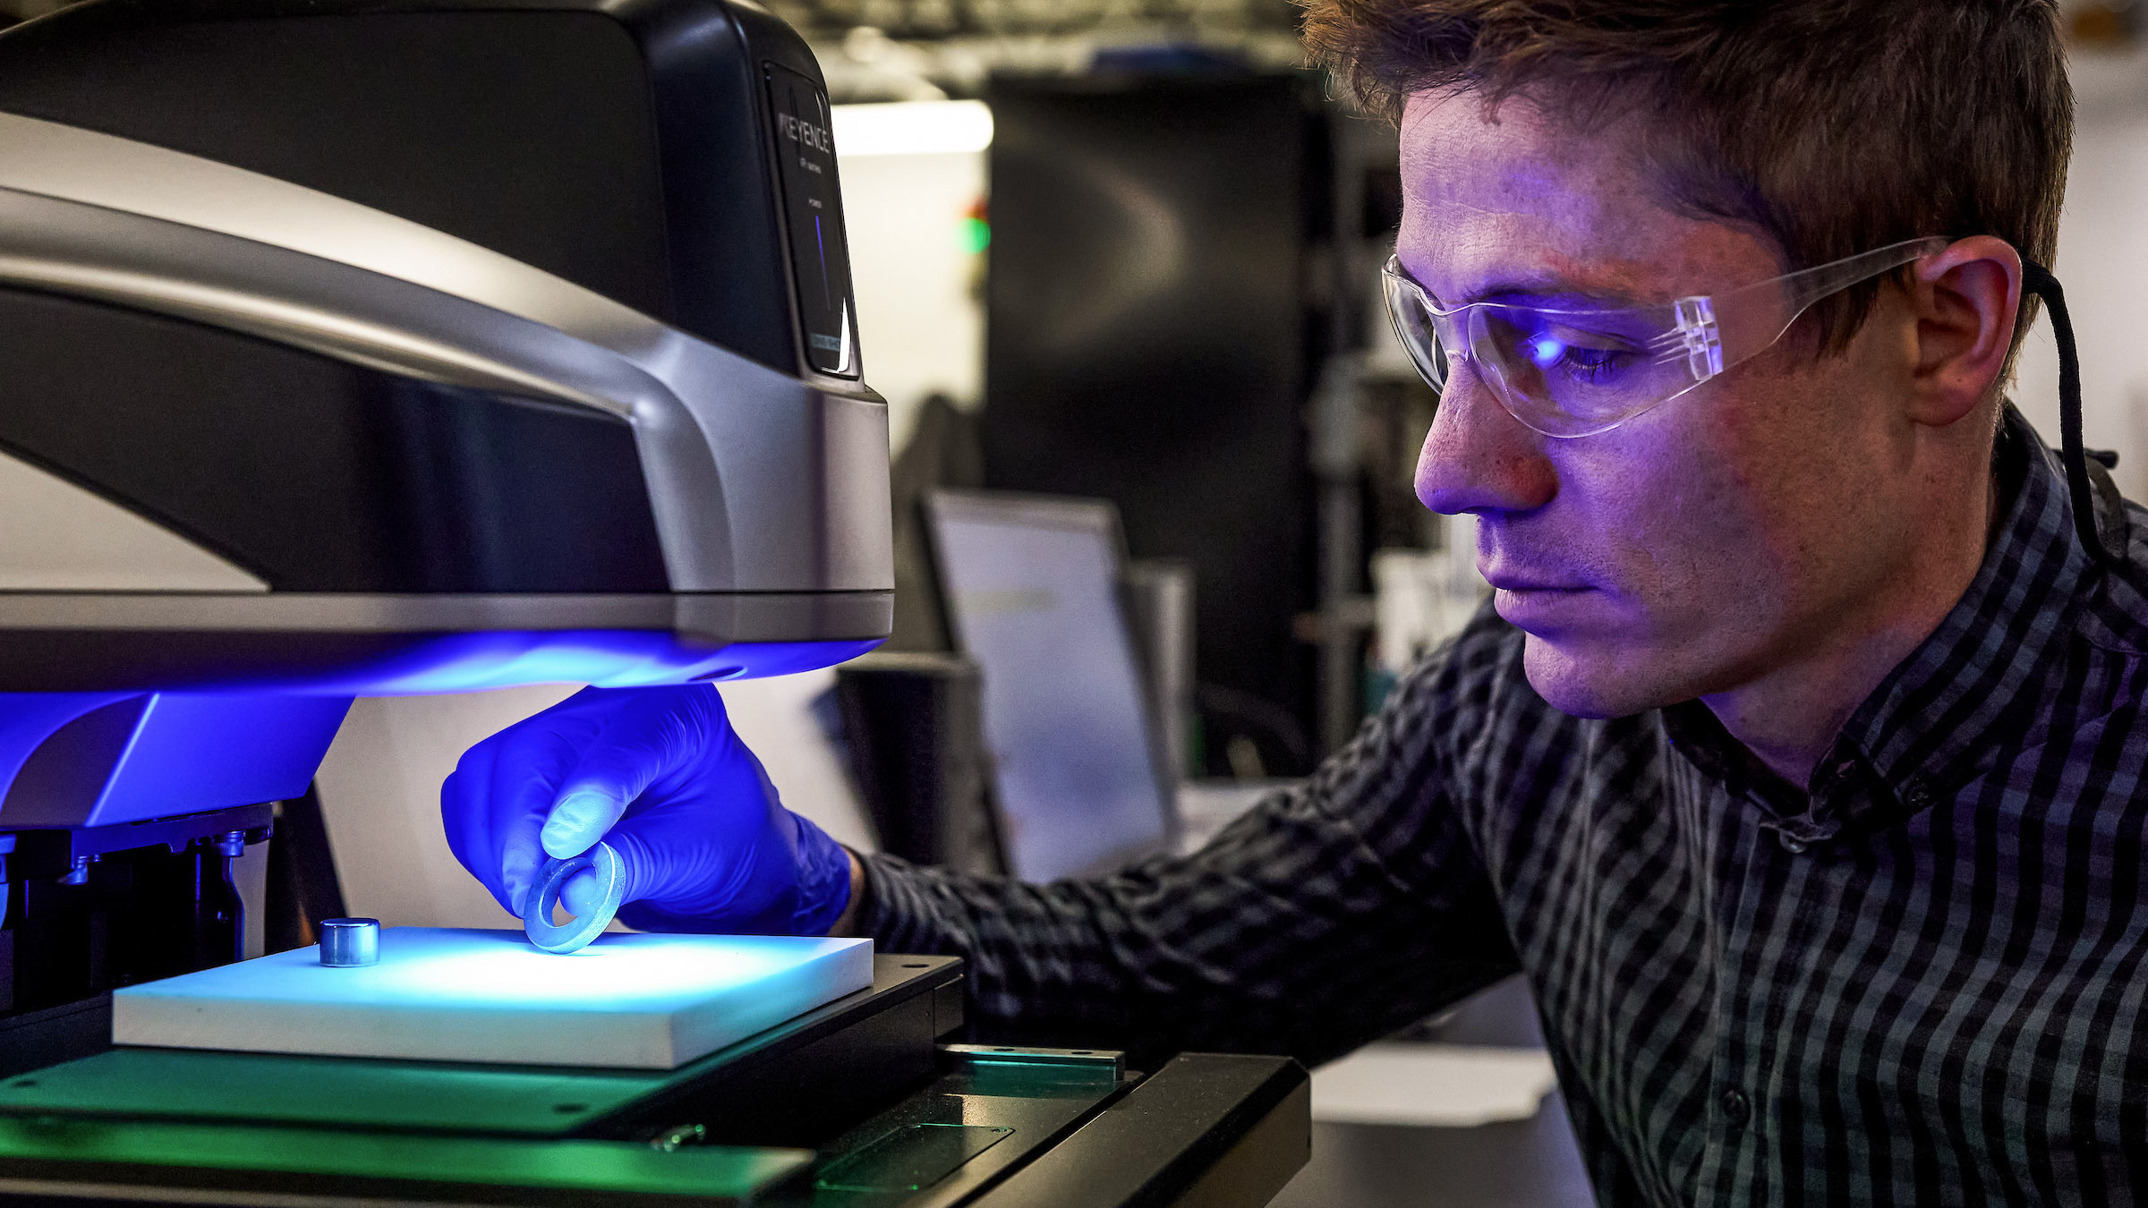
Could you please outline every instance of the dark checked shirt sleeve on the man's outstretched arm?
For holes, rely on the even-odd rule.
[[[1519,967],[1456,808],[1510,636],[1486,608],[1310,780],[1192,855],[1048,886],[872,855],[863,929],[962,957],[995,1042],[1321,1062],[1422,1019]]]

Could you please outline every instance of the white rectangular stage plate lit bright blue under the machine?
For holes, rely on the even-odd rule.
[[[112,993],[112,1042],[668,1070],[872,984],[870,939],[389,926],[380,963],[296,948]]]

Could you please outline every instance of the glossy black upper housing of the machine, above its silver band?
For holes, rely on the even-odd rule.
[[[775,140],[799,127],[780,116],[831,155],[825,105],[788,26],[715,0],[107,0],[0,39],[0,112],[346,198],[855,383],[855,359],[808,348],[846,316],[816,279],[799,297],[812,232],[782,213]],[[842,211],[825,213],[848,307]]]

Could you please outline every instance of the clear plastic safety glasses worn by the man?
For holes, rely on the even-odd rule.
[[[1721,294],[1663,305],[1441,307],[1388,258],[1388,318],[1424,380],[1446,389],[1469,361],[1506,411],[1544,436],[1592,436],[1757,357],[1815,301],[1948,245],[1910,239]]]

